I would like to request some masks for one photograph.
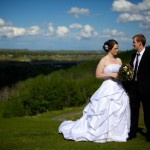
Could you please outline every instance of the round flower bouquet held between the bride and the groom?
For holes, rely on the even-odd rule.
[[[133,79],[133,68],[129,64],[123,64],[118,72],[118,79],[120,81],[130,81]]]

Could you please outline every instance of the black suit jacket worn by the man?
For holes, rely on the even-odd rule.
[[[132,55],[130,65],[133,67],[136,52]],[[137,71],[137,83],[140,94],[150,95],[150,49],[145,49]],[[132,85],[131,85],[132,86]]]

